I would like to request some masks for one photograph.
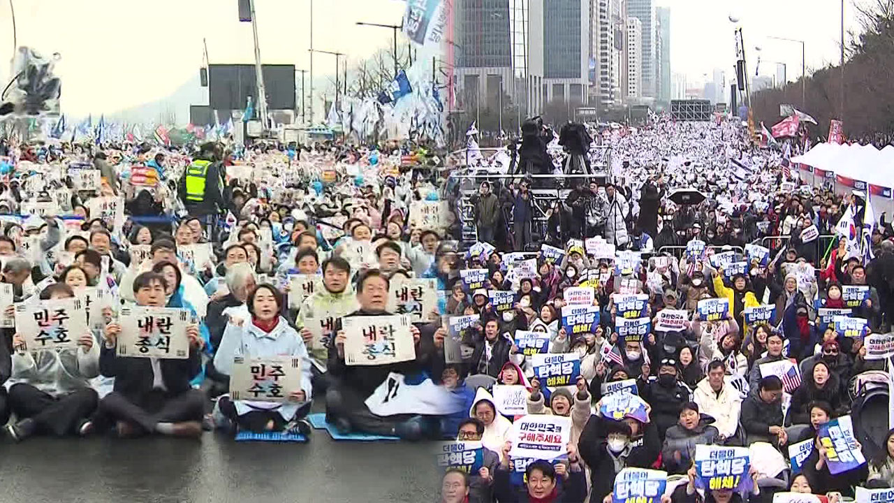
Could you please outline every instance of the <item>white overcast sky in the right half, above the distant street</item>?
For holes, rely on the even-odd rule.
[[[861,4],[872,0],[859,0]],[[845,0],[845,32],[856,30],[855,0]],[[749,72],[761,47],[760,73],[773,75],[776,65],[787,64],[789,81],[801,74],[801,45],[767,37],[805,41],[807,72],[840,59],[840,0],[656,0],[671,7],[671,71],[687,74],[688,81],[713,78],[715,68],[727,72],[735,64],[735,38],[730,13],[739,18],[745,38]]]

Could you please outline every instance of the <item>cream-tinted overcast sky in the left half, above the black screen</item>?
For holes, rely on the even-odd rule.
[[[202,38],[211,63],[254,63],[251,23],[237,0],[13,0],[18,43],[59,52],[63,111],[111,112],[168,96],[195,79]],[[265,63],[309,69],[310,0],[256,0]],[[141,5],[138,6],[138,5]],[[392,30],[357,21],[400,24],[401,0],[316,0],[314,47],[362,59],[391,47]],[[0,76],[9,73],[12,21],[0,3]],[[332,55],[314,57],[333,73]],[[4,79],[4,84],[6,80]]]

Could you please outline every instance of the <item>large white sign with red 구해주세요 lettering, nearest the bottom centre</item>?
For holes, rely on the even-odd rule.
[[[568,452],[571,418],[528,414],[512,424],[510,456],[552,460]]]

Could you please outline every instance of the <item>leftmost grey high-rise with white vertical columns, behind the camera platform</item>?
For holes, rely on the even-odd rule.
[[[453,0],[453,79],[460,107],[508,105],[539,114],[544,0]],[[532,18],[532,15],[534,16]]]

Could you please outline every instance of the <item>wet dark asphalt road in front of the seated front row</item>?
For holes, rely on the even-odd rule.
[[[436,501],[430,445],[200,440],[50,439],[0,443],[0,503]]]

